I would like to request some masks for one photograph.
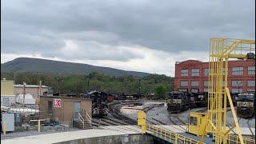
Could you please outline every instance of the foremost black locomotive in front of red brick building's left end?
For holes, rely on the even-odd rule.
[[[190,108],[190,94],[173,91],[168,94],[167,110],[170,113],[179,113]]]

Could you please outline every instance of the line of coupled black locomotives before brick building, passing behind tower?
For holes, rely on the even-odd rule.
[[[236,98],[238,94],[230,95],[232,98],[233,105],[236,106]],[[208,106],[207,92],[188,93],[183,91],[173,91],[167,94],[167,110],[170,111],[170,113],[179,113],[183,110],[188,110],[190,108],[206,106]],[[229,102],[227,102],[227,106],[229,106]]]

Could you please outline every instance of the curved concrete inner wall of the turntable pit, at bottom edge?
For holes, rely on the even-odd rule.
[[[130,134],[130,135],[110,135],[105,137],[96,137],[96,138],[83,138],[76,139],[68,142],[57,142],[55,144],[153,144],[154,139],[146,134]]]

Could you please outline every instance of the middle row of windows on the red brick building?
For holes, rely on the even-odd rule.
[[[203,81],[203,86],[210,86],[209,81]],[[181,86],[189,86],[188,81],[181,81]],[[199,86],[199,81],[191,81],[190,86]],[[224,81],[222,81],[222,86],[224,86]],[[243,81],[232,81],[231,86],[243,86]],[[255,86],[255,80],[247,80],[246,86]]]

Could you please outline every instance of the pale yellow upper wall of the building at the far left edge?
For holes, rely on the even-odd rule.
[[[1,80],[1,95],[14,95],[13,80]]]

